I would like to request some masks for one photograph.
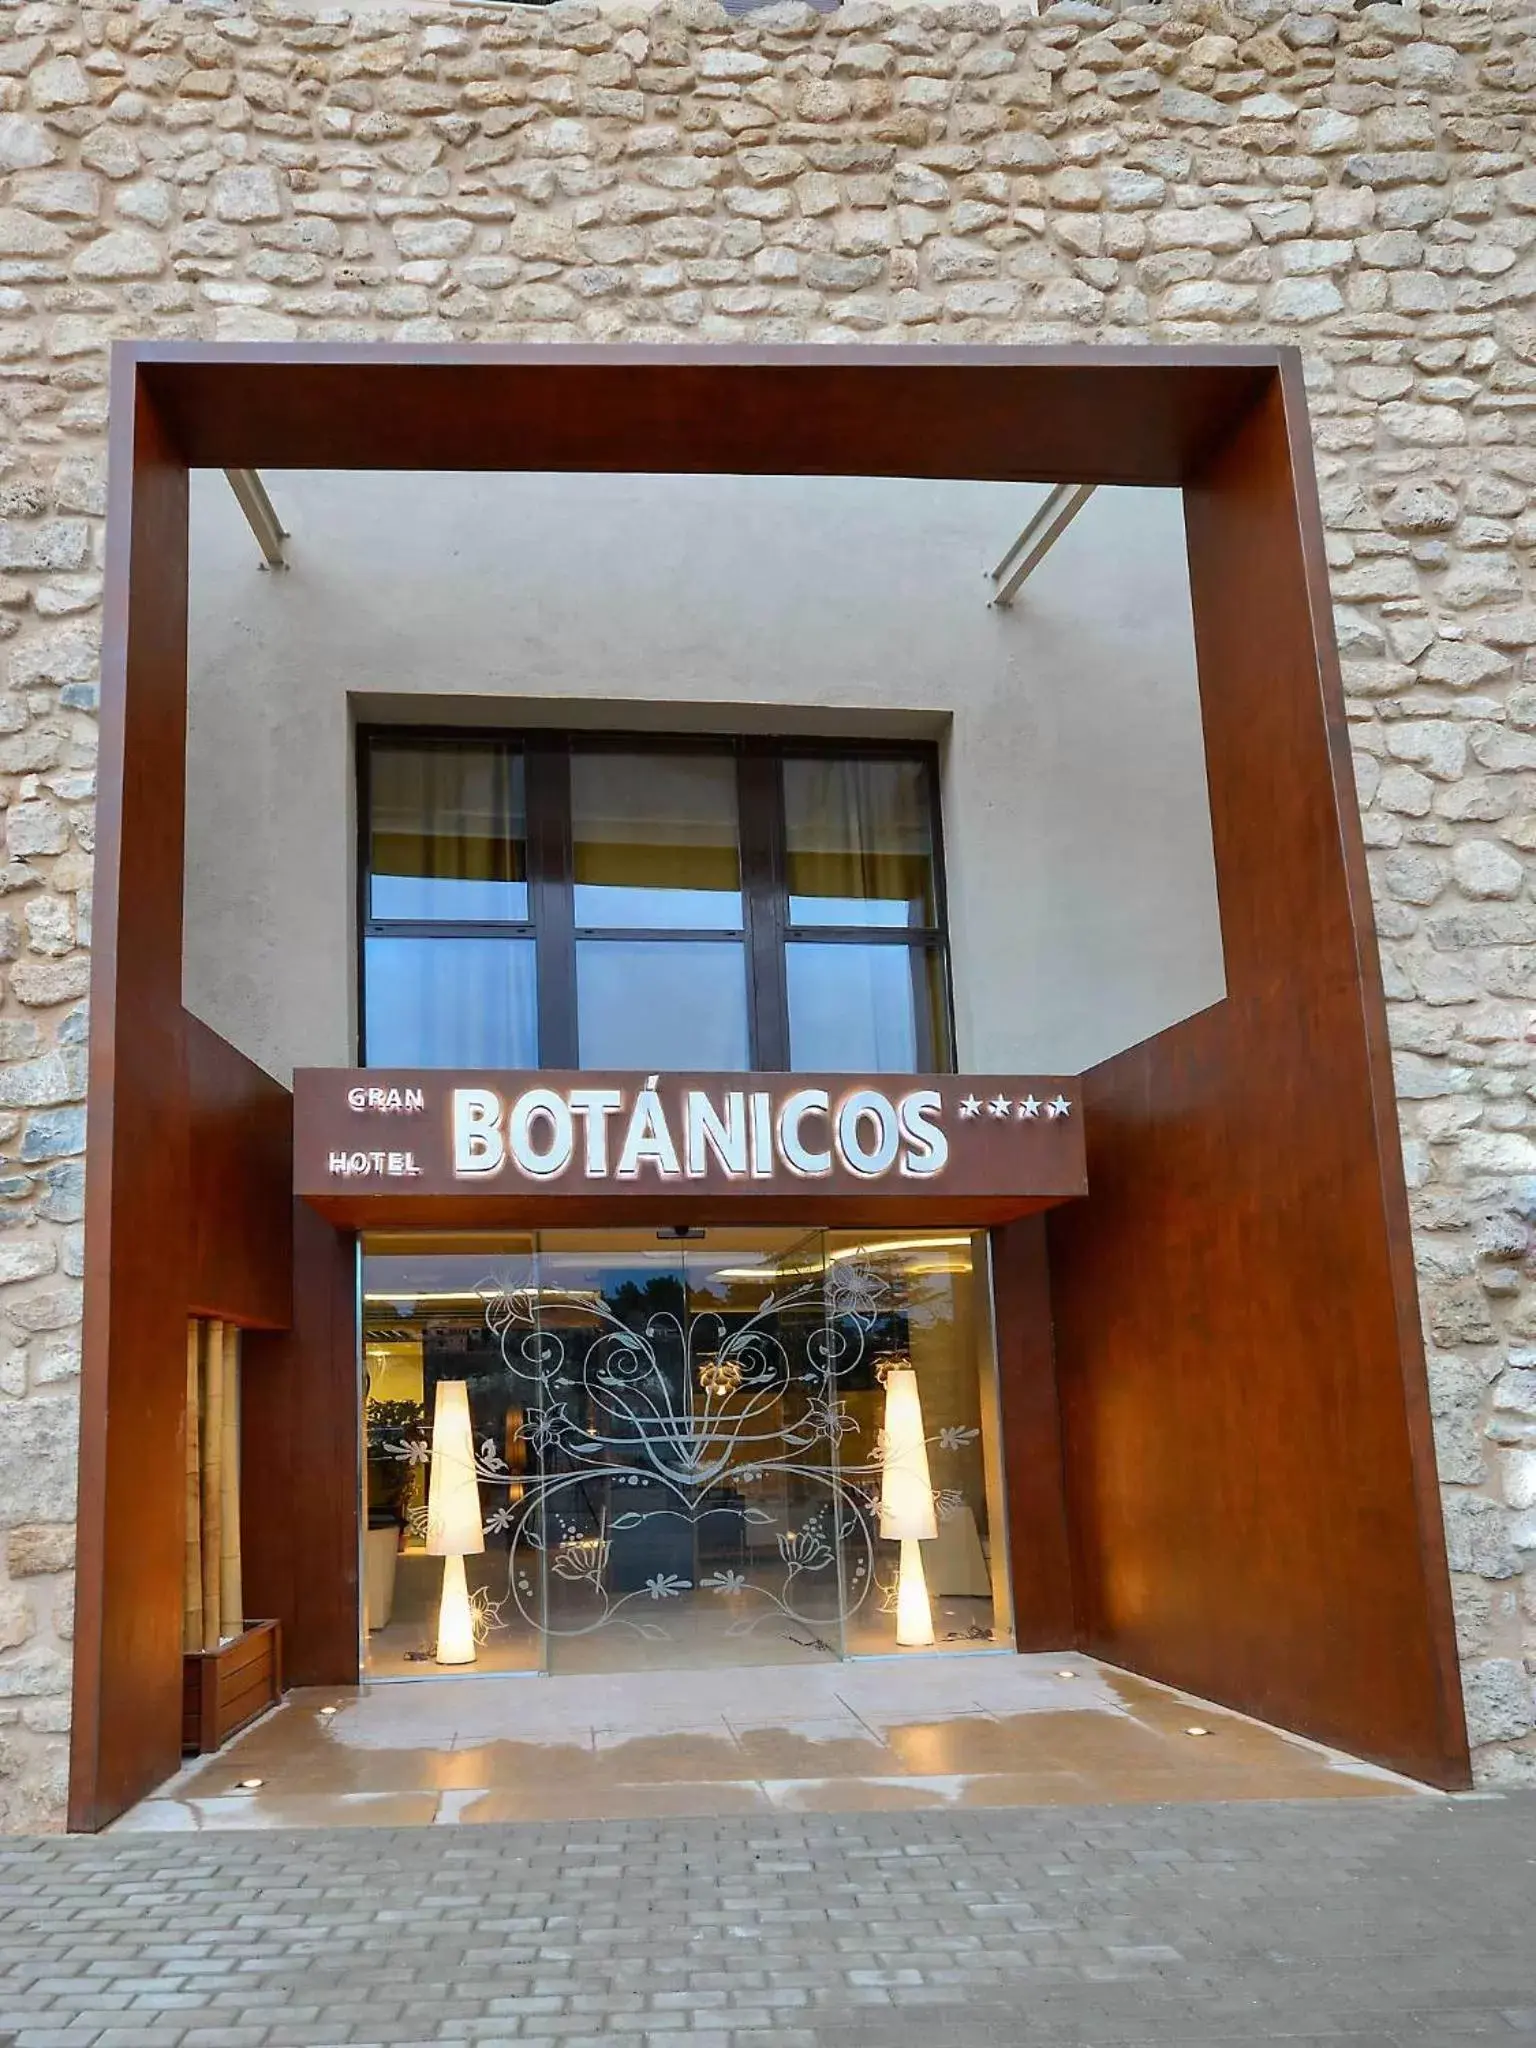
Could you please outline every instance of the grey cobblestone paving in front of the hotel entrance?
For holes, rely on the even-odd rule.
[[[1536,1794],[0,1845],[6,2048],[1536,2048]]]

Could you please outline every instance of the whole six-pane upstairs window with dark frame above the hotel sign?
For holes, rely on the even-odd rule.
[[[373,1067],[950,1065],[934,762],[362,739]]]

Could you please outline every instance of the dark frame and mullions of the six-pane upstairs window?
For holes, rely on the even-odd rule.
[[[520,920],[403,920],[373,915],[373,793],[371,758],[379,741],[399,745],[502,745],[522,756],[526,825],[528,915]],[[741,860],[741,930],[635,928],[575,924],[575,854],[571,831],[571,754],[709,754],[735,762],[737,846]],[[930,926],[829,926],[793,924],[788,918],[788,862],[784,829],[782,762],[786,760],[907,760],[922,768],[928,795],[934,860],[934,915]],[[580,1067],[575,948],[584,938],[698,940],[743,950],[748,1055],[752,1073],[788,1073],[788,963],[786,948],[901,946],[913,963],[924,999],[913,999],[918,1073],[954,1071],[954,985],[944,881],[944,834],[938,791],[938,748],[928,739],[758,737],[750,733],[625,733],[518,725],[385,725],[356,727],[356,1044],[369,1059],[369,1001],[365,948],[369,938],[532,938],[537,975],[539,1065]],[[938,961],[938,999],[944,1059],[934,1044],[934,1018],[926,999],[926,963]]]

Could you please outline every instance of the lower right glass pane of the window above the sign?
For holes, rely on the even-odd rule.
[[[932,946],[791,942],[788,1063],[811,1073],[948,1067],[944,977]]]

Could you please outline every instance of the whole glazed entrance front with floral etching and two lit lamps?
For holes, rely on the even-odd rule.
[[[1006,1642],[983,1253],[793,1229],[371,1239],[369,1673]]]

